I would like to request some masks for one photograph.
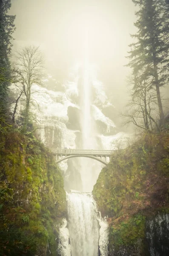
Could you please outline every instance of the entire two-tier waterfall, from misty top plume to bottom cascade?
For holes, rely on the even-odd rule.
[[[80,80],[80,149],[97,149],[95,122],[91,115],[92,69],[89,65],[88,36],[84,41],[84,64]],[[98,148],[100,149],[100,148]],[[101,218],[92,197],[93,185],[99,175],[100,163],[80,158],[80,191],[67,193],[68,220],[60,228],[61,256],[107,256],[108,224]]]

